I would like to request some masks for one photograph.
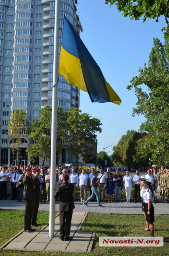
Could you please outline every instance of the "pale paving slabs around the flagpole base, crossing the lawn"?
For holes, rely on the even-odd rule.
[[[81,226],[87,216],[86,212],[74,212],[72,216],[70,241],[59,239],[59,215],[55,217],[55,236],[49,238],[49,225],[43,229],[36,229],[32,233],[22,230],[11,238],[0,249],[18,251],[65,251],[65,252],[90,252],[95,237],[93,231],[82,231]]]

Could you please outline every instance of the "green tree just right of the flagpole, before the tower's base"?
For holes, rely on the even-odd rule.
[[[78,108],[70,108],[66,112],[68,136],[70,140],[70,152],[76,157],[78,165],[78,155],[81,154],[85,158],[85,154],[89,154],[92,147],[87,144],[95,144],[97,135],[101,133],[101,122],[98,118],[91,117],[87,113],[81,113]]]

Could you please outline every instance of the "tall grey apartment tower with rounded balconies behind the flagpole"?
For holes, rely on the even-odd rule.
[[[76,4],[77,0],[60,0],[59,52],[64,14],[79,36],[82,31]],[[0,164],[12,164],[7,120],[14,110],[24,109],[32,123],[39,109],[52,106],[54,15],[55,1],[0,0]],[[79,89],[62,76],[58,105],[64,110],[79,107]],[[20,163],[27,165],[30,161],[25,150],[30,141],[24,133]],[[69,152],[63,150],[62,163],[71,160]],[[36,163],[41,164],[38,158]]]

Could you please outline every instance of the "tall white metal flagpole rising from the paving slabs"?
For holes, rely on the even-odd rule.
[[[56,169],[56,132],[57,132],[57,93],[58,85],[58,54],[59,54],[59,0],[55,0],[54,27],[54,60],[53,60],[53,91],[52,91],[52,119],[51,119],[51,161],[50,161],[50,212],[49,237],[54,237],[55,228],[55,169]],[[54,86],[55,85],[55,86]]]

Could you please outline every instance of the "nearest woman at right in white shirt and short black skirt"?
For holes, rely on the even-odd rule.
[[[148,223],[149,225],[150,237],[154,237],[154,207],[153,204],[151,204],[151,199],[154,196],[154,191],[151,187],[151,182],[147,181],[146,179],[145,181],[143,181],[143,187],[145,189],[142,190],[142,199],[143,209],[145,210],[146,215],[146,224]]]

